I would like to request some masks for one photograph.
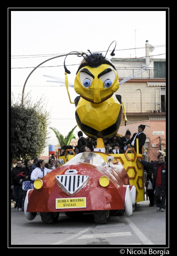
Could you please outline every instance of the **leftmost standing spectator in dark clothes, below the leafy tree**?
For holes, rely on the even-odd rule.
[[[15,195],[15,207],[17,207],[18,211],[22,211],[22,199],[23,199],[23,189],[22,189],[22,184],[14,184],[14,178],[17,177],[17,174],[22,172],[22,160],[18,159],[17,160],[17,165],[12,168],[11,171],[11,189],[13,191],[14,189],[14,195]]]

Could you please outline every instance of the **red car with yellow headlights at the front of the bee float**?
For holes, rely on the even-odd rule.
[[[57,223],[59,212],[79,216],[93,212],[95,222],[108,223],[111,214],[130,216],[136,187],[123,165],[101,152],[80,153],[54,169],[27,191],[24,214],[31,221],[40,212],[43,223]]]

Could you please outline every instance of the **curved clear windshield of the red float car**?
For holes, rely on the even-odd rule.
[[[105,166],[107,163],[100,155],[93,152],[80,153],[66,162],[64,165],[70,165],[74,163],[91,163],[92,165]]]

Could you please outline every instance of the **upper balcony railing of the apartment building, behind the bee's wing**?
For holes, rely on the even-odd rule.
[[[140,69],[141,68],[117,68],[117,71],[119,78],[126,78]],[[135,78],[166,78],[166,69],[145,68],[144,70],[145,72],[140,75],[137,75],[136,73],[135,75],[137,76]]]

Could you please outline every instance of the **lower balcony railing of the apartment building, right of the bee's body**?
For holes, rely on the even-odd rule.
[[[126,113],[157,113],[166,112],[166,103],[124,103]]]

